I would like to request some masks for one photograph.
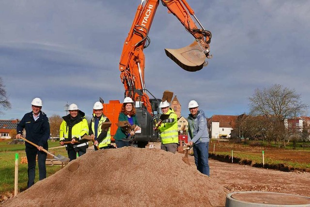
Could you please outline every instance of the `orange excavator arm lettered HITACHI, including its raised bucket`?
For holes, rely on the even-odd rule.
[[[200,23],[202,29],[198,29],[190,16],[196,18],[194,11],[186,0],[141,0],[124,42],[119,69],[121,71],[120,78],[124,84],[125,96],[143,103],[151,114],[153,114],[153,111],[149,96],[146,94],[144,82],[145,57],[143,49],[150,44],[148,34],[159,1],[168,8],[169,13],[172,13],[180,20],[186,31],[195,37],[195,41],[190,46],[181,49],[165,49],[167,56],[187,71],[202,69],[206,65],[205,59],[211,58],[209,55],[211,32],[203,29]],[[196,20],[198,21],[197,18]]]

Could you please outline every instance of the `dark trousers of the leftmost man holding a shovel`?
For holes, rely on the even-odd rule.
[[[47,153],[43,151],[39,151],[36,147],[34,148],[26,147],[25,151],[26,151],[27,162],[28,162],[27,188],[30,188],[34,184],[35,164],[36,164],[35,159],[37,155],[38,155],[38,165],[39,165],[39,180],[43,180],[44,178],[47,177],[47,168],[45,165],[45,162],[47,160]]]

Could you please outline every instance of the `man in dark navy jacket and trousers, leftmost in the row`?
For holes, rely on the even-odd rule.
[[[30,143],[25,142],[26,156],[28,161],[28,185],[30,188],[34,184],[35,178],[35,159],[38,155],[39,165],[39,180],[47,177],[46,159],[47,153],[42,149],[48,150],[47,140],[49,138],[49,122],[47,115],[41,111],[42,100],[40,98],[34,98],[31,102],[32,111],[26,113],[21,121],[17,125],[16,139],[20,139],[23,133],[23,129],[26,130],[26,139],[38,145],[35,147]]]

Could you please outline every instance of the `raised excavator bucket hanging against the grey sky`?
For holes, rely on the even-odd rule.
[[[165,52],[171,60],[189,72],[201,70],[207,64],[207,57],[197,41],[180,49],[165,48]]]

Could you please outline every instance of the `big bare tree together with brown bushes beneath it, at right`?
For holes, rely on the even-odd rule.
[[[285,147],[290,140],[305,142],[310,135],[310,126],[287,127],[287,119],[305,114],[309,106],[302,103],[301,95],[295,90],[274,84],[263,90],[256,89],[249,97],[249,114],[238,116],[232,138],[246,138],[282,143]]]

